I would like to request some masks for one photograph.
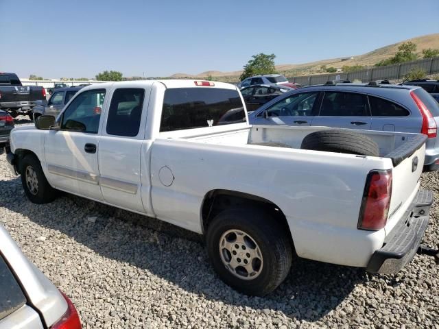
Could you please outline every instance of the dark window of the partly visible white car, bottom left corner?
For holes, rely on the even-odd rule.
[[[26,297],[0,254],[0,320],[26,304]]]

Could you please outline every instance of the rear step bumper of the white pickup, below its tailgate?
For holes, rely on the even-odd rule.
[[[420,190],[404,220],[396,224],[385,237],[384,245],[370,258],[366,271],[371,273],[396,273],[410,263],[422,241],[433,204],[433,193]]]

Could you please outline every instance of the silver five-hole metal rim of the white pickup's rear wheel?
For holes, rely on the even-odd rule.
[[[237,278],[254,280],[261,274],[263,258],[259,245],[250,234],[228,230],[219,239],[222,263]]]

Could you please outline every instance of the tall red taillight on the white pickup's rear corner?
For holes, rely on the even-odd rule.
[[[359,212],[360,230],[381,230],[387,223],[392,195],[392,170],[370,171]]]

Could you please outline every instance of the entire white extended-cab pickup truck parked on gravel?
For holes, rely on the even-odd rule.
[[[332,144],[303,149],[317,133]],[[66,191],[205,234],[219,277],[249,295],[276,289],[297,256],[399,271],[433,200],[419,190],[425,136],[249,126],[219,82],[88,86],[56,121],[14,129],[7,151],[32,202]]]

